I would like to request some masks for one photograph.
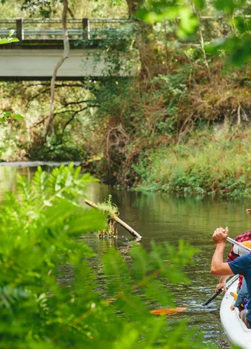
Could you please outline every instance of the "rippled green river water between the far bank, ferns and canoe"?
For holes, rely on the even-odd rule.
[[[31,178],[34,167],[0,166],[0,195],[3,191],[14,190],[17,174]],[[186,267],[190,278],[189,285],[172,285],[170,289],[176,298],[177,306],[187,306],[186,313],[175,316],[188,318],[189,325],[204,332],[204,340],[217,343],[219,348],[230,348],[227,336],[220,325],[220,299],[215,299],[208,308],[200,304],[213,292],[218,278],[211,276],[210,265],[215,245],[212,233],[218,226],[228,226],[229,236],[234,238],[241,232],[251,229],[251,218],[245,209],[251,208],[251,201],[225,201],[215,198],[184,198],[162,193],[136,193],[116,190],[105,184],[91,184],[86,197],[93,202],[102,202],[112,194],[113,202],[119,207],[120,217],[142,235],[142,245],[149,248],[151,240],[169,242],[176,245],[178,239],[184,239],[192,246],[200,248],[195,256],[195,265]],[[97,255],[102,253],[106,244],[93,235],[85,237]],[[124,258],[128,257],[131,239],[128,232],[119,228],[119,239],[110,240],[116,245]],[[227,252],[231,245],[227,245]],[[102,273],[98,276],[102,283]]]

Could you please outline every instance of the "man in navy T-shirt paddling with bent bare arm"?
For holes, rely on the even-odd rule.
[[[211,274],[215,276],[230,276],[241,274],[245,277],[248,288],[247,309],[240,311],[239,317],[248,329],[251,329],[251,253],[235,258],[230,262],[223,262],[225,243],[229,235],[229,229],[217,228],[213,233],[213,241],[216,244],[215,253],[211,262]]]

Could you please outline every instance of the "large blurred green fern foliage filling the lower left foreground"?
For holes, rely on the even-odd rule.
[[[102,229],[104,220],[78,200],[93,180],[79,170],[38,168],[1,202],[0,348],[172,349],[190,348],[190,341],[200,348],[201,335],[185,322],[172,329],[147,306],[174,305],[165,282],[188,282],[180,268],[193,263],[197,249],[182,241],[178,249],[153,243],[149,253],[133,246],[128,265],[111,248],[102,257],[106,282],[98,291],[93,251],[76,238]]]

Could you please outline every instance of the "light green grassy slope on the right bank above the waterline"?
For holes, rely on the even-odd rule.
[[[159,147],[135,166],[141,190],[251,196],[251,130],[195,133],[184,144]]]

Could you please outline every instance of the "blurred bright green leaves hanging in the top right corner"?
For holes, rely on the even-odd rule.
[[[231,17],[231,35],[225,35],[220,40],[213,38],[212,43],[208,45],[206,51],[209,54],[218,54],[226,52],[229,55],[229,62],[236,66],[245,64],[249,61],[250,52],[250,20],[242,18],[245,15],[245,5],[247,1],[234,0],[215,0],[208,6],[211,10],[213,6],[213,14],[217,15],[221,11],[222,15]],[[137,17],[149,23],[164,22],[165,20],[178,20],[179,25],[176,31],[177,36],[185,38],[190,34],[194,34],[199,24],[199,13],[197,10],[205,10],[205,1],[192,1],[192,6],[188,6],[187,1],[167,1],[167,0],[151,0],[145,1],[142,8],[138,11]],[[195,6],[195,8],[193,7]],[[238,17],[235,19],[235,11],[238,11]],[[241,19],[240,19],[241,18]],[[201,47],[204,50],[204,47]]]

